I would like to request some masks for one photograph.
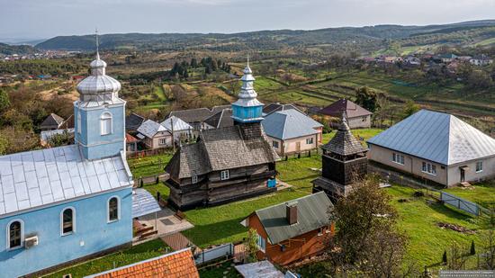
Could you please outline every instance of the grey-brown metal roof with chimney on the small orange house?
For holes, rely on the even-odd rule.
[[[287,202],[255,212],[271,244],[277,244],[330,225],[329,212],[333,209],[333,203],[330,202],[326,193],[314,193],[290,201],[290,203],[294,202],[297,202],[298,222],[293,225],[289,225],[286,219]]]

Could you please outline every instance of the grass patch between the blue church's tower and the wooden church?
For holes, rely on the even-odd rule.
[[[142,158],[130,158],[127,160],[130,172],[134,178],[164,173],[164,167],[172,158],[172,154],[162,154]]]

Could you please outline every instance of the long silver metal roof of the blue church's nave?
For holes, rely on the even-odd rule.
[[[76,145],[0,157],[0,218],[85,195],[130,186],[120,156],[85,160]]]

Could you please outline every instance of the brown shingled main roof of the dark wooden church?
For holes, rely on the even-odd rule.
[[[198,142],[177,150],[165,171],[177,180],[278,159],[260,123],[241,124],[202,130]]]

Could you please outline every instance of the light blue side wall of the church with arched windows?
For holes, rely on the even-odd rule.
[[[121,219],[107,223],[107,202],[121,198]],[[76,232],[60,235],[60,212],[76,209]],[[17,277],[59,265],[81,256],[117,247],[132,240],[132,189],[104,193],[75,202],[0,219],[0,277]],[[40,244],[29,249],[6,250],[6,229],[11,220],[24,221],[24,235],[36,233]],[[84,241],[84,246],[81,242]]]

